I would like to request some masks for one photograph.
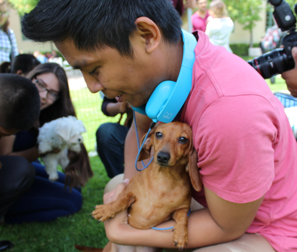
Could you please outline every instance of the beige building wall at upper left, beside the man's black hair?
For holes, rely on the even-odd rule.
[[[9,22],[9,28],[14,31],[17,47],[21,53],[34,53],[35,51],[51,52],[52,50],[57,50],[52,43],[34,43],[27,39],[24,40],[24,36],[21,33],[20,16],[15,9],[10,10]]]

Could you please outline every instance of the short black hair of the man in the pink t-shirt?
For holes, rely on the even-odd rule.
[[[70,39],[78,50],[111,47],[132,57],[135,20],[145,16],[160,28],[164,40],[181,38],[181,18],[170,0],[40,0],[22,18],[22,33],[36,42]]]

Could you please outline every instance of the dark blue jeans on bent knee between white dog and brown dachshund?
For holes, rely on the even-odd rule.
[[[107,123],[99,126],[96,132],[98,155],[109,178],[124,172],[124,144],[128,130],[120,124]]]

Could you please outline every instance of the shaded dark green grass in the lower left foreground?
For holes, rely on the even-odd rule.
[[[109,181],[99,157],[90,158],[94,177],[82,189],[82,209],[67,217],[45,223],[0,226],[0,240],[13,242],[14,252],[77,252],[74,245],[103,248],[107,243],[103,223],[89,214],[102,203],[103,189]]]

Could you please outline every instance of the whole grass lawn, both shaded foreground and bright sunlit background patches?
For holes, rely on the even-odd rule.
[[[246,59],[249,60],[249,59]],[[275,83],[266,80],[273,91],[286,90],[285,81],[276,77]],[[102,100],[99,94],[92,94],[87,88],[71,90],[71,98],[78,119],[82,120],[88,132],[84,133],[84,142],[88,151],[95,148],[95,133],[99,125],[117,122],[101,112]],[[124,120],[124,119],[123,119]],[[122,121],[123,122],[123,121]],[[47,223],[25,223],[21,225],[0,226],[0,240],[14,243],[14,252],[76,252],[74,245],[103,248],[107,243],[102,223],[92,219],[89,214],[93,206],[102,203],[103,189],[109,181],[99,157],[90,158],[94,177],[82,189],[84,203],[82,209],[67,217]]]

